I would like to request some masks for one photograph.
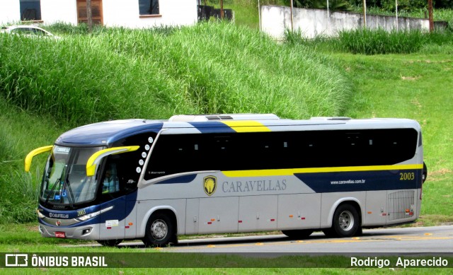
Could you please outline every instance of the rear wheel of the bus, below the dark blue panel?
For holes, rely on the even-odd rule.
[[[346,238],[360,233],[360,216],[354,206],[341,204],[333,213],[332,227],[323,230],[327,237]]]

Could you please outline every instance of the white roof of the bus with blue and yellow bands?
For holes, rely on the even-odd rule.
[[[214,116],[220,116],[214,119]],[[225,116],[232,117],[224,119]],[[313,117],[311,119],[280,119],[266,115],[264,119],[248,119],[250,115],[178,116],[168,120],[121,119],[98,122],[71,129],[59,136],[55,144],[62,146],[100,146],[127,136],[161,129],[178,129],[187,133],[234,133],[243,131],[294,131],[323,129],[391,129],[414,128],[420,125],[411,119],[350,119],[349,117]],[[192,117],[192,119],[190,119]],[[205,117],[205,118],[202,118]],[[209,118],[207,118],[209,117]],[[255,118],[259,118],[258,115]],[[184,130],[185,129],[185,130]],[[182,130],[182,131],[181,131]]]

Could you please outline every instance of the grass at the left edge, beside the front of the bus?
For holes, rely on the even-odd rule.
[[[28,151],[50,145],[64,124],[40,117],[0,100],[0,223],[35,221],[38,182],[45,156],[33,161],[32,173],[23,172]]]

